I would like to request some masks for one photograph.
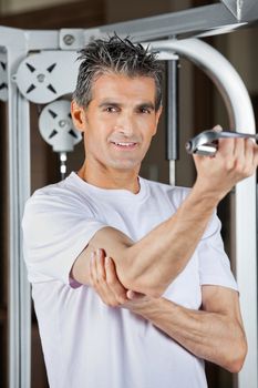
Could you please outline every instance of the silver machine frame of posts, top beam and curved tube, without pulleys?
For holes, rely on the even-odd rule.
[[[131,34],[135,41],[149,41],[177,35],[211,35],[229,32],[258,20],[256,0],[224,0],[207,7],[168,13],[96,29],[62,29],[60,31],[23,31],[0,27],[0,51],[8,60],[9,118],[9,387],[30,387],[30,287],[21,249],[21,217],[30,195],[30,121],[29,102],[12,80],[19,63],[33,50],[76,50],[90,39],[114,30]],[[185,55],[211,78],[226,102],[234,129],[255,131],[254,114],[245,85],[228,61],[198,40],[153,42],[161,55],[175,52]],[[209,62],[205,58],[209,57]],[[210,60],[213,58],[213,60]],[[217,63],[217,65],[215,65]],[[224,71],[221,71],[224,67]],[[219,69],[219,73],[218,73]],[[236,99],[237,96],[237,99]],[[240,101],[240,103],[239,103]],[[244,112],[244,113],[242,113]],[[174,180],[174,161],[171,178]],[[249,355],[239,374],[239,388],[257,388],[257,279],[256,279],[256,184],[248,178],[236,187],[236,272],[244,320],[249,339]],[[248,203],[248,206],[246,204]],[[248,231],[248,233],[247,233]],[[247,289],[248,285],[248,289]],[[249,309],[251,306],[251,309]]]

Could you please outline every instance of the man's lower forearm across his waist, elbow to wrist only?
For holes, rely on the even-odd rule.
[[[195,356],[231,372],[240,370],[246,355],[245,334],[226,314],[192,310],[164,298],[143,299],[132,310]]]

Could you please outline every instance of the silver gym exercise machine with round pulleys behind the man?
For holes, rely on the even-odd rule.
[[[235,69],[199,38],[231,32],[258,20],[256,0],[218,3],[153,18],[94,29],[51,31],[0,27],[0,100],[8,104],[9,176],[9,388],[30,387],[31,296],[22,257],[21,218],[30,187],[30,103],[42,106],[39,127],[43,139],[60,153],[61,177],[66,152],[80,141],[69,116],[69,95],[74,90],[76,50],[92,38],[133,35],[168,63],[169,178],[175,183],[177,157],[176,73],[180,57],[193,61],[215,82],[229,115],[230,130],[255,134],[248,92]],[[173,82],[172,82],[173,80]],[[169,109],[168,109],[169,111]],[[236,186],[233,201],[235,266],[240,290],[249,351],[238,388],[258,388],[257,355],[257,229],[256,180]],[[251,306],[251,307],[250,307]]]

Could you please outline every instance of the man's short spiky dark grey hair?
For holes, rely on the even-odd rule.
[[[163,67],[140,43],[133,43],[128,38],[121,39],[116,34],[109,40],[96,39],[80,51],[78,83],[73,99],[80,106],[86,108],[92,100],[93,82],[109,72],[126,76],[149,76],[156,85],[155,110],[162,104]]]

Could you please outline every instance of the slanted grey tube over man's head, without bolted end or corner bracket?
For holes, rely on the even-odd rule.
[[[252,0],[255,3],[255,0]],[[180,35],[213,35],[225,31],[234,31],[258,18],[257,9],[240,22],[224,3],[195,7],[188,10],[164,13],[156,17],[112,23],[85,30],[84,42],[106,33],[116,33],[121,37],[132,35],[143,42],[147,40],[165,39]]]

